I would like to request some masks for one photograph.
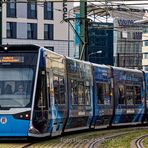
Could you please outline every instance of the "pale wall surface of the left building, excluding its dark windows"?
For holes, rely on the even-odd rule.
[[[22,0],[19,0],[22,1]],[[24,1],[24,0],[23,0]],[[6,3],[2,4],[2,43],[3,44],[36,44],[40,46],[54,47],[54,51],[68,55],[68,40],[70,40],[70,56],[74,56],[74,32],[70,28],[70,38],[68,39],[68,23],[63,18],[63,3],[55,2],[54,20],[44,20],[44,7],[37,5],[37,19],[27,19],[27,4],[17,3],[17,18],[6,17]],[[73,3],[68,3],[68,10],[73,8]],[[17,23],[17,39],[6,37],[7,22]],[[27,39],[27,23],[37,23],[37,40]],[[54,24],[54,40],[44,40],[44,24]],[[25,33],[26,32],[26,33]]]

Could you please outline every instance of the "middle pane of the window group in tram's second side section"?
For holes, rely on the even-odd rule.
[[[84,83],[83,82],[78,82],[78,104],[79,105],[84,105]]]

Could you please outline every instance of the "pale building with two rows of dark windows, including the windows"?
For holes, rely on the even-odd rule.
[[[71,8],[73,3],[67,3]],[[2,4],[2,44],[37,44],[72,57],[73,40],[73,31],[63,21],[63,3],[7,0]]]

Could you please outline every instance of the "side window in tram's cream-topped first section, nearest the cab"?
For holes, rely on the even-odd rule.
[[[54,76],[53,85],[54,85],[55,104],[65,104],[64,78]]]

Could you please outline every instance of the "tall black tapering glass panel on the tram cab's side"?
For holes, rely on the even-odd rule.
[[[48,131],[48,102],[46,89],[46,74],[40,70],[37,80],[35,106],[33,111],[33,125],[40,133]]]

